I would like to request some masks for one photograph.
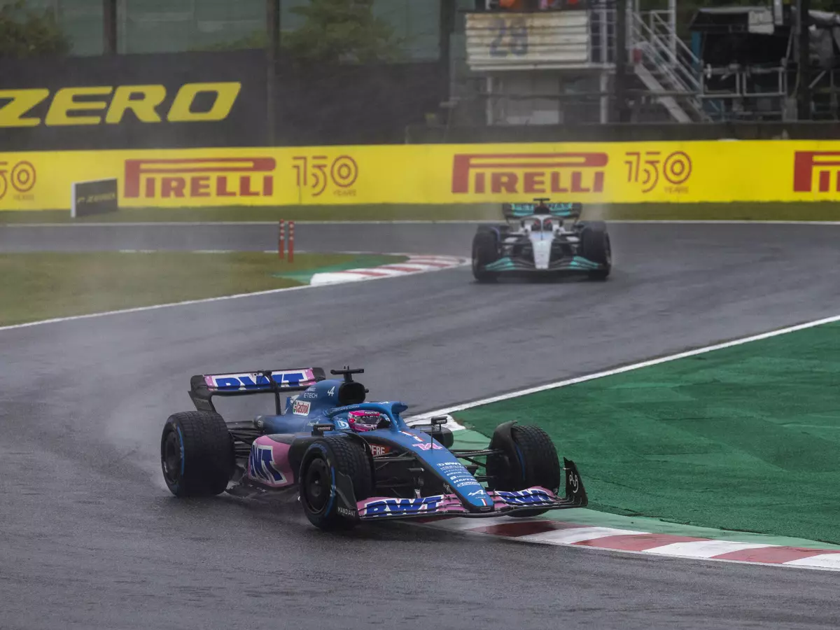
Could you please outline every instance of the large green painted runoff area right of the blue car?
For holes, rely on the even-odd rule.
[[[543,427],[601,512],[840,543],[840,323],[453,415]]]

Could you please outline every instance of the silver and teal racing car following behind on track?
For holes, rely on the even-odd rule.
[[[548,201],[506,203],[506,224],[479,226],[472,245],[476,281],[496,281],[501,274],[570,271],[606,280],[612,269],[606,223],[579,221],[580,203]]]

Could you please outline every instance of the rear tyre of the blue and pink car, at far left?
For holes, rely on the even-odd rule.
[[[213,412],[171,415],[160,438],[163,478],[175,496],[213,496],[234,474],[234,442],[223,417]]]

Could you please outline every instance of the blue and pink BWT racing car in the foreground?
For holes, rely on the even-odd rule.
[[[559,463],[542,429],[503,423],[486,449],[452,449],[448,417],[410,427],[402,402],[365,402],[354,374],[321,368],[192,377],[194,412],[170,416],[160,440],[176,496],[297,491],[312,524],[352,528],[406,517],[532,517],[585,507],[575,463]],[[281,397],[286,396],[285,406]],[[270,394],[275,412],[226,422],[214,396]],[[563,475],[563,472],[565,475]],[[559,491],[564,492],[559,496]]]

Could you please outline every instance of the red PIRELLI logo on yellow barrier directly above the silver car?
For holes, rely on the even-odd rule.
[[[608,162],[609,155],[601,152],[457,154],[452,166],[452,192],[603,192]]]

